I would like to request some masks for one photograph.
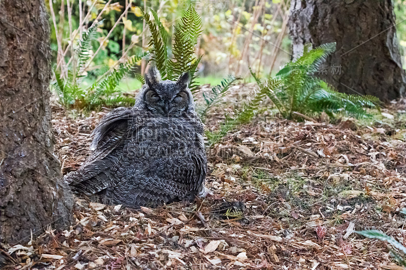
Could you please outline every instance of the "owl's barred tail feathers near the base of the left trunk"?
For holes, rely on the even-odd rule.
[[[112,162],[109,160],[95,161],[65,175],[64,180],[74,192],[93,195],[110,185],[111,168]]]

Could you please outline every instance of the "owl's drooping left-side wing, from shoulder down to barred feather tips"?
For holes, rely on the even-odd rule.
[[[65,176],[74,191],[92,195],[110,185],[111,169],[117,163],[117,157],[109,157],[109,154],[121,147],[133,113],[132,109],[120,107],[101,119],[92,133],[94,139],[90,146],[93,150],[91,156],[77,171]]]

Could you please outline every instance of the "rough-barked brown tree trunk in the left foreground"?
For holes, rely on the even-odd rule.
[[[53,151],[49,34],[42,0],[0,1],[0,243],[26,243],[72,218]]]

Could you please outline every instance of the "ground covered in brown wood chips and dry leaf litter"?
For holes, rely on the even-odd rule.
[[[232,88],[207,128],[252,89]],[[64,173],[85,160],[107,112],[53,105]],[[75,224],[9,247],[8,269],[404,269],[386,243],[354,233],[406,243],[406,100],[382,112],[387,124],[368,126],[263,110],[208,150],[207,198],[141,210],[76,199]]]

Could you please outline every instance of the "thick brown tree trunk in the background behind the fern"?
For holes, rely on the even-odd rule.
[[[289,28],[294,56],[307,43],[337,43],[318,73],[341,92],[385,102],[404,94],[391,0],[292,0]]]

